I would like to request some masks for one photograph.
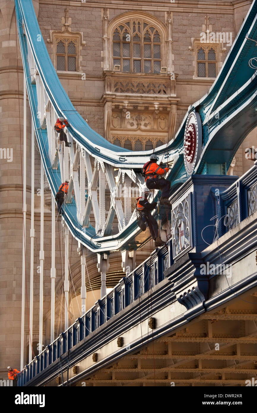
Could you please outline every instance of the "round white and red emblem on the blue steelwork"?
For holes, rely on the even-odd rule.
[[[202,124],[200,115],[191,112],[186,121],[184,134],[184,164],[188,175],[193,173],[202,148]]]

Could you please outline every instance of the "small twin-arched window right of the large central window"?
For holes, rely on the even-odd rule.
[[[197,76],[217,76],[217,49],[215,46],[199,46],[197,49]]]

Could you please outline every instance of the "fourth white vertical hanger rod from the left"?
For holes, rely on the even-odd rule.
[[[54,341],[54,303],[55,303],[55,202],[54,202],[54,195],[52,195],[51,343]]]

